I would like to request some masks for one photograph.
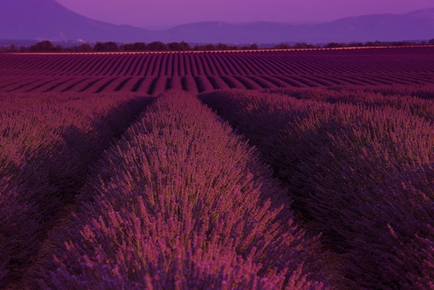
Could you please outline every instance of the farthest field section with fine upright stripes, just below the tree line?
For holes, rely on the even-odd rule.
[[[399,62],[397,62],[399,59]],[[2,54],[1,76],[248,76],[433,73],[433,48],[203,53]],[[374,78],[375,79],[375,78]],[[387,82],[387,79],[386,79]]]

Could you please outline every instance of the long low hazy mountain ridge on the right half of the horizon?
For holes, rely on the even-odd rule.
[[[166,31],[171,40],[194,42],[367,42],[434,38],[434,8],[404,15],[365,15],[322,24],[205,22]]]

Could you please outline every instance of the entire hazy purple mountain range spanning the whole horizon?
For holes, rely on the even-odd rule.
[[[367,42],[434,38],[434,8],[403,15],[365,15],[323,24],[200,22],[150,31],[89,19],[55,0],[0,0],[0,39],[86,42]],[[290,20],[290,19],[288,19]]]

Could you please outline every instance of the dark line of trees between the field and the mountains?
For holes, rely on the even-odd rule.
[[[63,47],[60,44],[53,44],[49,40],[37,42],[31,46],[16,46],[10,45],[9,48],[1,48],[0,52],[91,52],[91,51],[227,51],[227,50],[256,50],[256,49],[318,49],[318,48],[338,48],[338,47],[370,47],[370,46],[418,46],[418,45],[434,45],[434,39],[422,42],[399,41],[399,42],[329,42],[328,44],[309,44],[307,42],[299,42],[296,44],[280,43],[259,47],[258,44],[243,44],[243,45],[228,45],[228,44],[198,44],[190,46],[186,42],[134,42],[118,44],[116,42],[96,42],[94,46],[91,44],[80,44],[78,46]]]

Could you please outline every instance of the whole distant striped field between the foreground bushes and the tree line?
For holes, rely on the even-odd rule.
[[[420,84],[434,81],[433,49],[268,51],[244,53],[53,54],[0,56],[0,91],[153,94],[166,88],[211,89]],[[186,89],[184,78],[196,78]],[[69,82],[84,79],[82,87]],[[157,78],[157,80],[155,80]],[[161,79],[160,79],[161,78]],[[101,82],[94,82],[94,80]],[[146,80],[146,81],[144,81]],[[144,81],[144,86],[142,82]],[[64,86],[63,84],[69,85]],[[130,83],[129,85],[126,85]]]

